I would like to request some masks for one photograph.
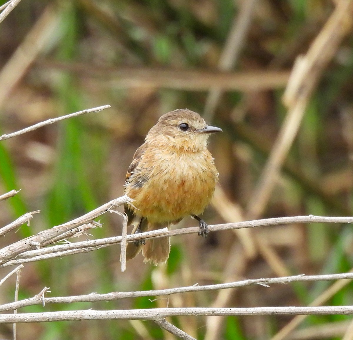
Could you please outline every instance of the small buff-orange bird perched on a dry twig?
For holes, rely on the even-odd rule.
[[[186,216],[199,222],[199,235],[206,237],[207,224],[198,217],[211,200],[218,178],[214,158],[207,149],[211,133],[222,131],[207,125],[196,112],[179,109],[158,119],[136,150],[125,182],[125,204],[132,233],[170,228]],[[126,258],[142,250],[144,262],[165,263],[170,238],[130,242]]]

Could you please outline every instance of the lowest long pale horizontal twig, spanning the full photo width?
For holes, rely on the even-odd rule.
[[[148,308],[120,310],[74,310],[60,312],[39,312],[0,314],[0,323],[30,323],[71,320],[156,320],[177,315],[350,315],[353,306],[321,307],[242,307],[242,308]]]

